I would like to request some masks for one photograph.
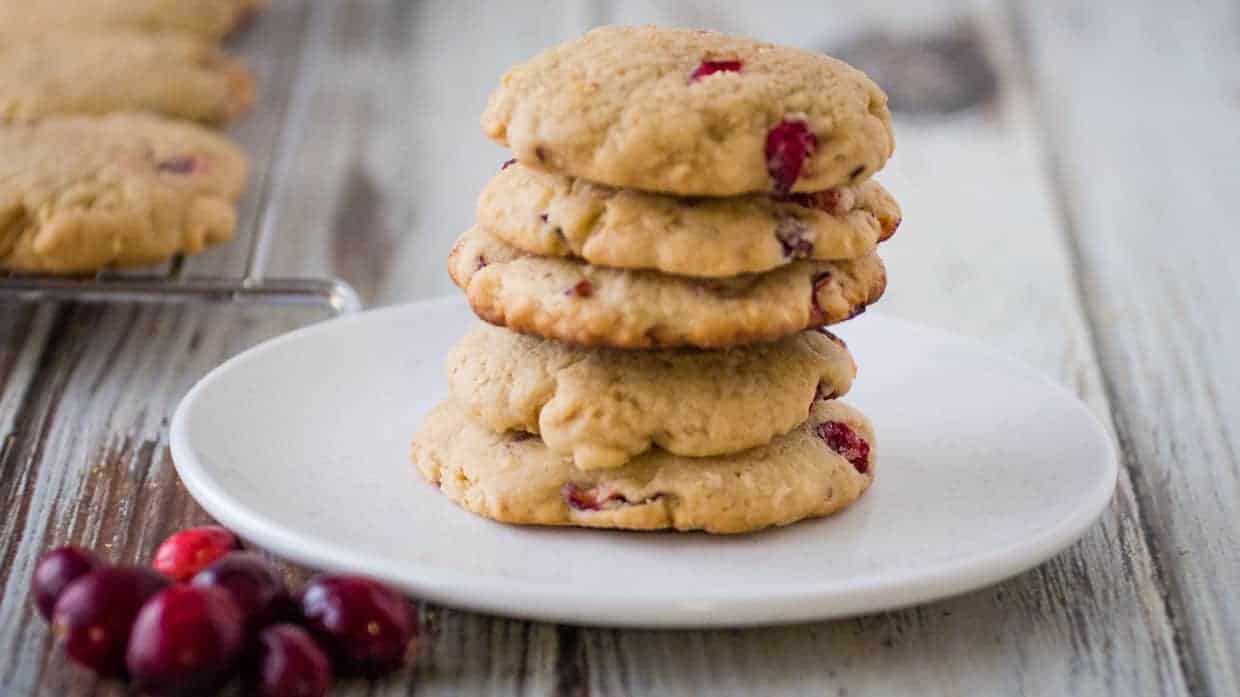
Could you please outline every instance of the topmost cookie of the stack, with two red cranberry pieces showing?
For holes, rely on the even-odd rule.
[[[482,130],[526,165],[680,196],[825,191],[892,155],[887,95],[815,51],[610,26],[510,69]]]

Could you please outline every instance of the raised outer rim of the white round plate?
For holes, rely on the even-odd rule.
[[[347,547],[321,541],[234,501],[196,456],[187,422],[201,396],[233,366],[314,334],[340,331],[341,327],[353,322],[379,321],[378,317],[383,315],[441,305],[466,306],[463,298],[449,295],[331,319],[272,337],[211,370],[177,404],[170,425],[172,464],[190,495],[217,521],[280,557],[312,569],[372,575],[434,604],[527,620],[662,629],[763,626],[841,619],[970,593],[1023,573],[1066,549],[1097,522],[1114,497],[1118,479],[1118,451],[1115,440],[1102,420],[1075,393],[1018,358],[981,341],[879,313],[867,315],[867,321],[903,325],[909,331],[928,334],[940,341],[977,351],[997,365],[1025,380],[1039,382],[1063,397],[1065,404],[1083,417],[1080,420],[1087,425],[1087,430],[1102,443],[1102,461],[1096,465],[1105,471],[1097,477],[1094,491],[1071,515],[1039,531],[1033,539],[1027,538],[1019,544],[988,549],[986,553],[911,577],[905,574],[882,580],[868,574],[843,585],[833,584],[827,589],[763,585],[753,593],[727,592],[718,595],[703,589],[692,599],[651,593],[591,594],[589,599],[583,599],[582,594],[565,597],[559,588],[517,579],[505,579],[503,593],[496,595],[496,583],[491,577],[480,579],[441,567],[419,568],[413,562],[374,559],[353,553]],[[465,512],[465,515],[472,513]],[[773,588],[777,589],[775,594],[771,593]]]

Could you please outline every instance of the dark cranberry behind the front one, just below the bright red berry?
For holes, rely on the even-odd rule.
[[[264,626],[294,615],[293,598],[284,580],[253,552],[232,552],[193,577],[193,585],[222,588],[232,597],[255,635]]]

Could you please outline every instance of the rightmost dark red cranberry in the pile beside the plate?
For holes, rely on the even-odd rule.
[[[417,630],[403,595],[360,577],[311,580],[301,595],[301,615],[346,675],[378,677],[401,667]]]

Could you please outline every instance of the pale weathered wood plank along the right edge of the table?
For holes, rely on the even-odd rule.
[[[1240,7],[1029,5],[1086,310],[1189,685],[1240,693]]]

